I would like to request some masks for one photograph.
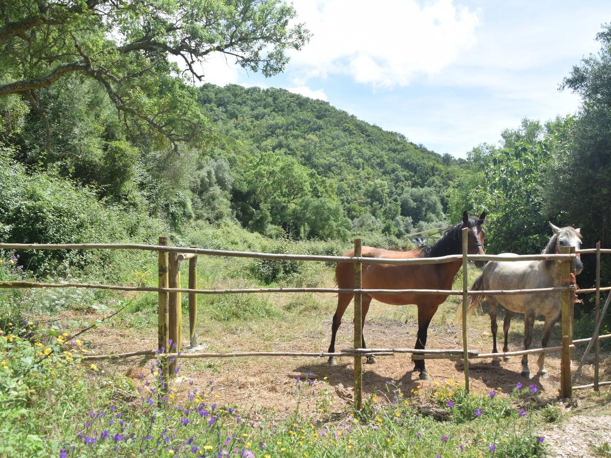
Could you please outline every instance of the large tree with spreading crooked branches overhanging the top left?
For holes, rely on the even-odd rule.
[[[18,95],[43,119],[38,91],[67,75],[91,79],[136,132],[197,144],[208,124],[185,79],[203,79],[197,64],[222,53],[271,76],[309,32],[288,23],[282,0],[11,0],[0,1],[0,96]],[[185,67],[180,71],[176,61]]]

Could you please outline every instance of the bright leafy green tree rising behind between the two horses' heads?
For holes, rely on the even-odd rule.
[[[482,145],[472,151],[476,174],[450,192],[450,213],[488,212],[488,252],[540,253],[549,239],[541,187],[554,139],[549,133],[543,135],[540,123],[527,119],[519,129],[505,130],[502,137],[501,148]]]

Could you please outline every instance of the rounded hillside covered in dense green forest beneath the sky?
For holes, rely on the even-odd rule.
[[[282,89],[207,84],[199,100],[218,126],[212,156],[233,170],[244,225],[271,219],[294,236],[325,238],[334,231],[318,227],[324,213],[338,228],[345,215],[353,230],[402,236],[443,217],[456,163],[449,155]]]

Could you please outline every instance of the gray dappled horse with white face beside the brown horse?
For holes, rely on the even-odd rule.
[[[581,234],[579,228],[574,229],[570,226],[559,228],[551,222],[554,235],[547,247],[543,250],[543,254],[560,253],[560,247],[575,247],[579,250],[581,244]],[[513,253],[502,253],[507,256],[516,256]],[[579,254],[577,255],[575,271],[580,274],[584,265],[581,262]],[[533,288],[551,288],[552,286],[560,286],[560,261],[514,261],[514,262],[497,262],[492,261],[486,264],[481,275],[475,280],[471,289],[474,291],[484,291],[486,289],[533,289]],[[535,318],[539,315],[545,317],[543,327],[543,338],[541,338],[541,347],[546,347],[549,341],[549,335],[552,332],[554,323],[560,318],[562,310],[561,303],[562,293],[544,293],[544,294],[510,294],[499,296],[470,296],[468,301],[467,311],[469,314],[473,312],[475,307],[481,304],[483,300],[488,300],[490,306],[489,314],[492,331],[492,352],[497,353],[496,333],[497,333],[497,304],[502,305],[507,310],[505,321],[503,322],[503,333],[505,333],[505,343],[503,344],[503,352],[507,351],[507,333],[511,317],[514,313],[524,313],[524,349],[527,350],[532,341],[532,330]],[[522,376],[530,377],[528,355],[522,356]],[[509,357],[504,358],[509,361]],[[538,375],[547,378],[547,371],[544,367],[545,353],[539,355],[539,371]],[[492,359],[493,366],[499,366],[499,358]]]

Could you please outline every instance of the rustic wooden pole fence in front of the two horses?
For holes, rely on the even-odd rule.
[[[316,256],[316,255],[289,255],[277,253],[251,253],[226,250],[208,250],[197,247],[170,247],[167,237],[159,238],[159,245],[142,244],[0,244],[0,249],[7,250],[148,250],[158,252],[158,287],[147,286],[120,286],[120,285],[92,285],[89,283],[39,283],[39,282],[0,282],[0,288],[95,288],[111,289],[116,291],[152,291],[158,293],[158,349],[148,351],[137,351],[123,354],[111,355],[89,355],[87,360],[126,358],[132,356],[158,357],[161,360],[162,375],[164,380],[170,380],[174,376],[177,358],[226,358],[226,357],[251,357],[251,356],[274,356],[274,357],[353,357],[354,358],[354,400],[355,407],[362,407],[362,357],[365,355],[393,355],[398,353],[410,353],[414,359],[462,359],[464,361],[465,386],[469,390],[469,360],[474,358],[492,358],[509,355],[524,355],[541,352],[562,352],[561,358],[561,383],[560,396],[570,398],[572,389],[590,388],[598,390],[600,385],[611,384],[611,382],[599,382],[599,346],[598,341],[602,338],[610,338],[611,334],[599,336],[599,325],[602,316],[606,312],[611,299],[611,293],[602,313],[599,313],[599,298],[601,291],[611,291],[610,287],[600,286],[600,258],[601,253],[611,253],[611,250],[603,250],[600,244],[596,249],[579,250],[580,254],[596,254],[596,288],[577,290],[575,283],[567,283],[565,279],[575,271],[576,252],[574,247],[562,247],[561,253],[557,255],[525,255],[525,256],[499,256],[499,255],[468,255],[467,254],[467,230],[463,229],[463,253],[461,255],[442,256],[439,258],[411,258],[411,259],[378,259],[362,258],[360,256],[360,239],[354,242],[354,256]],[[296,261],[324,261],[333,263],[353,263],[355,275],[354,289],[338,288],[247,288],[247,289],[198,289],[197,287],[197,256],[233,256],[247,258],[262,258],[272,260],[296,260]],[[189,261],[188,288],[181,288],[180,283],[180,261]],[[559,283],[562,286],[538,289],[514,289],[514,290],[486,290],[469,291],[467,283],[467,261],[527,261],[527,260],[559,260],[562,262],[562,273]],[[360,282],[361,266],[367,264],[441,264],[462,261],[463,263],[463,289],[441,290],[441,289],[362,289]],[[574,278],[574,277],[573,277]],[[562,293],[562,346],[535,348],[524,351],[513,351],[504,353],[479,353],[469,351],[467,347],[467,297],[472,295],[500,295],[500,294],[543,294],[558,292]],[[573,303],[575,294],[596,293],[595,308],[595,332],[592,338],[573,340]],[[189,343],[192,349],[198,345],[197,336],[197,294],[251,294],[251,293],[354,293],[354,348],[342,349],[340,352],[181,352],[182,336],[182,310],[181,293],[189,294]],[[387,348],[387,349],[363,349],[362,342],[362,311],[360,310],[361,296],[364,293],[418,293],[418,294],[448,294],[463,297],[463,348],[447,350],[426,350],[413,348]],[[595,347],[595,382],[590,385],[573,387],[571,380],[571,349],[576,344],[589,343]],[[580,363],[579,373],[584,358]],[[577,375],[577,374],[576,374]],[[168,383],[166,383],[167,387]]]

